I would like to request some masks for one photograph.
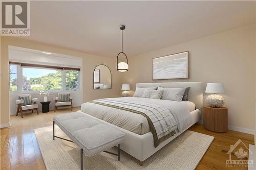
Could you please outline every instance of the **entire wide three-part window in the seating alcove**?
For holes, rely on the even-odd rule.
[[[71,91],[80,89],[80,69],[10,62],[9,89],[26,91]]]

